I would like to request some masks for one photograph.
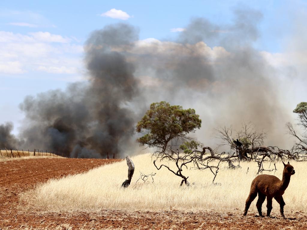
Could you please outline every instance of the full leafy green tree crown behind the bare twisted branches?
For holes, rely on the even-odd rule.
[[[140,145],[162,148],[165,151],[168,143],[176,138],[188,140],[189,132],[200,128],[201,120],[194,109],[182,109],[180,105],[170,105],[168,102],[156,102],[150,105],[141,121],[136,126],[137,132],[147,130],[138,138]]]

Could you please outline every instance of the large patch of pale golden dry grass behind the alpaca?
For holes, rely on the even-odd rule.
[[[241,162],[240,169],[227,169],[224,163],[216,177],[220,186],[212,185],[213,175],[209,170],[185,169],[188,181],[194,185],[180,187],[181,178],[167,169],[157,171],[150,154],[131,158],[135,165],[131,185],[123,189],[122,182],[127,178],[126,161],[106,165],[83,174],[52,179],[38,185],[35,190],[21,196],[47,210],[59,211],[99,211],[101,209],[132,210],[215,210],[243,212],[249,194],[251,181],[257,172],[257,163]],[[307,211],[307,162],[291,162],[296,174],[284,194],[285,214],[290,210]],[[268,168],[269,163],[265,163]],[[247,172],[247,168],[249,171]],[[277,162],[278,171],[266,172],[282,177],[282,162]],[[150,174],[156,172],[154,183],[138,182],[139,171]],[[266,211],[266,201],[263,210]],[[250,212],[256,213],[256,200]],[[279,213],[279,205],[273,201],[273,213]]]

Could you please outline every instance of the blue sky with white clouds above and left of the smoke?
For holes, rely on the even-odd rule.
[[[293,21],[307,8],[304,1],[1,1],[0,109],[6,112],[0,124],[13,121],[16,132],[26,95],[86,79],[83,44],[93,30],[127,22],[139,28],[141,40],[175,40],[180,32],[171,29],[185,28],[191,18],[228,24],[235,7],[263,14],[254,45],[272,55],[287,52]],[[111,9],[128,18],[107,17]]]

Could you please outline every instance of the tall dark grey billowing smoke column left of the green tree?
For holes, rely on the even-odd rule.
[[[85,44],[89,82],[29,96],[20,105],[28,121],[25,145],[72,157],[119,157],[134,134],[127,103],[138,95],[138,85],[134,65],[112,46],[137,39],[138,31],[125,24],[94,31]]]

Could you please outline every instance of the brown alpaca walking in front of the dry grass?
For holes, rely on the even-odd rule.
[[[289,185],[291,175],[293,175],[295,171],[293,166],[290,165],[289,161],[287,164],[285,163],[283,164],[284,164],[284,170],[282,172],[282,180],[278,179],[276,176],[273,175],[263,174],[257,176],[253,180],[253,182],[251,182],[251,191],[245,203],[245,210],[243,216],[246,216],[247,211],[251,205],[251,202],[256,198],[258,194],[258,201],[256,206],[260,217],[263,217],[261,207],[265,199],[267,202],[266,216],[270,217],[270,213],[272,210],[272,199],[274,197],[274,199],[280,205],[280,214],[282,215],[283,218],[285,218],[284,216],[285,202],[284,199],[282,198],[282,195],[284,194],[286,188]]]

